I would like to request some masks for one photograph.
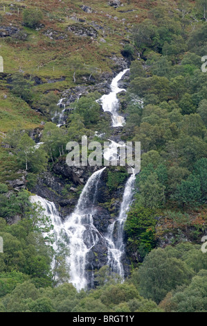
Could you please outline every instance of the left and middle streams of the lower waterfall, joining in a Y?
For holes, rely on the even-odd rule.
[[[78,291],[87,286],[87,277],[85,275],[87,254],[95,246],[98,238],[102,237],[93,225],[93,214],[95,212],[94,203],[98,191],[98,182],[102,171],[105,169],[104,167],[91,175],[82,190],[74,212],[65,221],[62,221],[54,203],[39,196],[30,197],[31,203],[39,202],[45,209],[45,214],[51,217],[54,225],[53,232],[57,238],[62,237],[62,233],[66,236],[70,249],[67,263],[70,266],[71,283]]]

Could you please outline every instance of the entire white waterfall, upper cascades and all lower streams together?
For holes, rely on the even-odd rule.
[[[125,123],[125,119],[118,116],[118,98],[116,97],[116,94],[118,94],[118,92],[125,91],[125,89],[120,89],[118,87],[118,81],[128,70],[129,69],[125,69],[124,71],[120,72],[120,74],[118,74],[118,76],[112,80],[111,93],[102,96],[102,98],[98,100],[102,103],[102,108],[104,111],[111,112],[114,127],[123,126]],[[65,110],[65,106],[62,103],[63,100],[64,98],[62,98],[57,105]],[[56,119],[54,117],[55,121],[57,121],[57,116],[59,117],[59,124],[57,126],[61,126],[62,123],[64,123],[62,120],[64,110],[58,114],[56,112]],[[40,144],[41,143],[37,145],[39,146]],[[111,145],[107,151],[103,153],[105,159],[109,161],[116,159],[119,146],[120,144],[117,144],[115,141],[111,141]],[[64,234],[66,237],[66,243],[69,245],[70,249],[70,255],[67,257],[67,262],[70,266],[71,283],[78,291],[86,288],[86,286],[89,284],[86,273],[86,266],[88,266],[89,263],[87,259],[89,257],[89,253],[93,251],[92,249],[99,246],[100,243],[105,243],[105,248],[107,249],[107,264],[111,267],[111,270],[118,273],[122,278],[125,276],[122,263],[123,253],[125,250],[123,228],[127,218],[129,205],[132,203],[134,180],[136,176],[133,173],[126,182],[118,218],[116,218],[114,223],[109,225],[106,234],[100,234],[95,225],[93,225],[93,215],[96,213],[95,207],[96,195],[98,193],[98,182],[102,172],[105,169],[106,168],[104,167],[91,175],[87,181],[87,184],[82,190],[74,212],[64,221],[62,221],[62,218],[60,217],[54,203],[51,203],[39,196],[31,197],[31,202],[40,202],[42,207],[46,209],[46,214],[51,217],[54,225],[53,232],[55,233],[57,239],[58,237],[62,237],[62,234]],[[91,280],[93,282],[93,275]]]

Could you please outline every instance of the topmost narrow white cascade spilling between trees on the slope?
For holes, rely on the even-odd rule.
[[[111,82],[111,92],[109,94],[103,95],[98,100],[98,103],[102,105],[102,110],[105,112],[111,112],[113,127],[123,127],[125,124],[124,117],[118,115],[119,101],[116,95],[120,92],[125,92],[125,89],[118,87],[118,82],[121,78],[123,78],[127,71],[129,71],[129,69],[120,71],[120,73]]]

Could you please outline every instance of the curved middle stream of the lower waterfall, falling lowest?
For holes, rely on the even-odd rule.
[[[93,225],[93,205],[98,191],[98,181],[105,168],[91,175],[84,186],[75,211],[64,222],[64,230],[69,238],[71,254],[69,264],[71,268],[71,282],[76,289],[87,286],[85,265],[87,253],[98,241],[100,233]]]

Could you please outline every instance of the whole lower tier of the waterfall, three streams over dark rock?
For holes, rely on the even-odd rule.
[[[127,217],[126,212],[132,203],[135,175],[131,175],[127,180],[118,218],[109,225],[107,234],[101,234],[93,224],[93,216],[96,214],[98,184],[105,169],[100,169],[91,175],[82,190],[74,212],[64,221],[54,203],[39,196],[30,197],[32,203],[39,202],[45,209],[44,214],[51,217],[55,238],[58,240],[64,236],[66,246],[70,250],[69,257],[67,257],[67,263],[70,266],[70,282],[78,291],[87,286],[93,287],[93,270],[100,268],[100,265],[96,264],[98,260],[96,252],[101,252],[102,257],[98,257],[101,266],[108,264],[112,271],[124,277],[123,227]],[[114,228],[116,228],[116,239]],[[55,249],[55,243],[53,246]]]

